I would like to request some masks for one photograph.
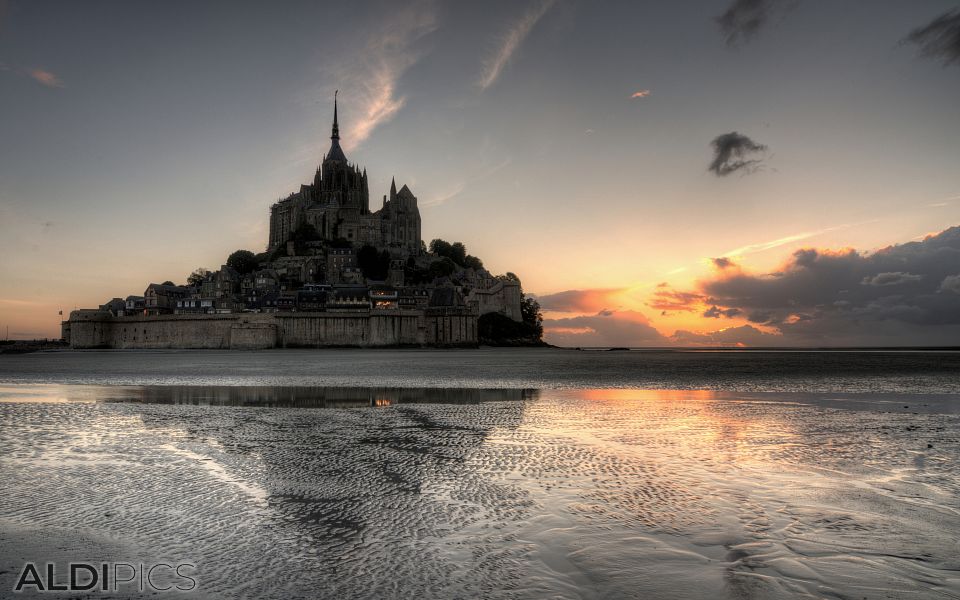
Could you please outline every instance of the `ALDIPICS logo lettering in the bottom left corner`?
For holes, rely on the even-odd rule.
[[[67,563],[57,571],[54,563],[27,563],[13,587],[16,592],[190,592],[197,589],[197,566],[177,564]]]

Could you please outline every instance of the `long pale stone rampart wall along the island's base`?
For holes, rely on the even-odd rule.
[[[457,308],[130,317],[75,310],[63,338],[71,348],[476,347],[477,316]]]

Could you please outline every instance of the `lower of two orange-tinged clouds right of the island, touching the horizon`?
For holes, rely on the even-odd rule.
[[[605,310],[594,315],[544,319],[544,337],[558,346],[665,346],[660,334],[639,312]]]

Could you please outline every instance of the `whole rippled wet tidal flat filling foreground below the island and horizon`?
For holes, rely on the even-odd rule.
[[[4,357],[0,589],[189,561],[177,597],[957,597],[956,355],[826,354]]]

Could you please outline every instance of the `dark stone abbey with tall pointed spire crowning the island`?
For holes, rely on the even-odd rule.
[[[421,237],[417,198],[407,186],[398,192],[393,181],[380,210],[370,212],[367,170],[351,165],[340,148],[336,98],[333,102],[330,151],[317,167],[313,184],[300,186],[300,191],[270,208],[269,249],[282,247],[295,231],[310,225],[326,240],[387,248],[403,258],[418,255]]]

